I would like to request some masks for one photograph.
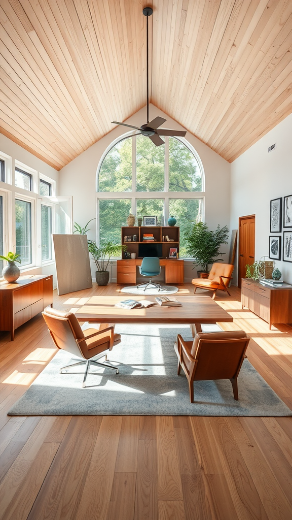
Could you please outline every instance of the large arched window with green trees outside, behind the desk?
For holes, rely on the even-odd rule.
[[[180,226],[180,257],[187,257],[185,224],[203,219],[204,172],[187,140],[164,137],[156,147],[148,137],[127,135],[104,152],[97,170],[99,242],[121,242],[127,216],[156,216],[167,225],[174,215]]]

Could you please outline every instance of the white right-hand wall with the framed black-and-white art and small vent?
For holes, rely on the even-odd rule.
[[[269,255],[270,235],[282,235],[283,241],[283,230],[270,233],[270,201],[292,193],[291,135],[292,114],[231,164],[230,228],[238,228],[238,217],[256,215],[256,260]],[[268,153],[275,142],[276,148]],[[292,283],[292,264],[276,264],[284,280]]]

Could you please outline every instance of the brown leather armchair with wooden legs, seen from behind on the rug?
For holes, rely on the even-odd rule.
[[[245,357],[249,337],[242,330],[198,332],[194,341],[177,336],[175,351],[177,373],[183,369],[189,383],[190,401],[194,402],[194,381],[230,379],[234,399],[238,400],[237,377]]]

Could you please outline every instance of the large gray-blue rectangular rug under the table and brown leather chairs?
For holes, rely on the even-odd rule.
[[[82,388],[84,367],[79,373],[59,375],[59,368],[76,358],[59,351],[9,415],[242,415],[275,417],[292,415],[245,359],[238,376],[239,401],[227,381],[194,383],[194,404],[183,372],[177,375],[174,351],[176,334],[191,340],[188,326],[118,325],[122,343],[109,353],[120,374],[94,368]],[[214,326],[206,326],[206,331]]]

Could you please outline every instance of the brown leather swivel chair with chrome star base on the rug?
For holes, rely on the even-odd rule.
[[[83,388],[85,387],[85,381],[91,363],[115,370],[118,374],[118,368],[108,363],[98,361],[102,357],[105,357],[106,361],[107,355],[104,354],[104,351],[112,350],[113,345],[121,343],[121,335],[114,334],[113,325],[102,330],[97,330],[92,327],[91,329],[83,331],[73,313],[66,313],[51,307],[46,307],[42,314],[55,345],[60,349],[67,350],[67,352],[70,352],[70,354],[74,356],[83,358],[83,361],[62,367],[60,374],[62,374],[62,370],[67,368],[76,367],[77,365],[86,365],[82,384]],[[98,355],[99,357],[97,359],[93,359]]]

